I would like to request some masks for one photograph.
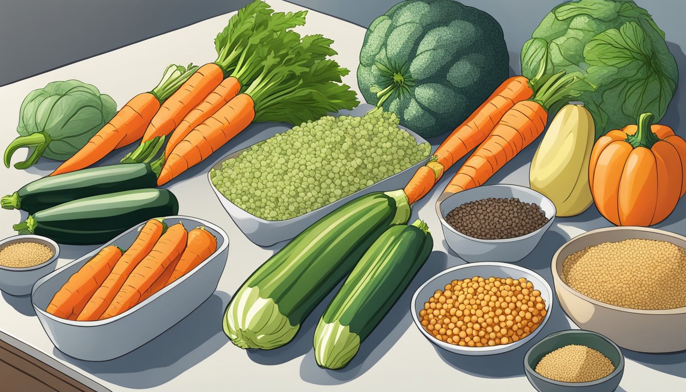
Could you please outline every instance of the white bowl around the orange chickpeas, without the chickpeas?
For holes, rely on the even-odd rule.
[[[431,336],[431,334],[429,334],[429,332],[427,332],[427,330],[424,329],[424,327],[421,324],[421,321],[419,321],[419,312],[422,309],[424,309],[424,303],[429,299],[429,297],[434,295],[434,292],[436,292],[436,290],[443,290],[443,288],[445,288],[445,285],[449,284],[451,281],[456,279],[459,280],[471,278],[475,276],[480,276],[484,278],[511,277],[512,279],[519,279],[523,277],[530,281],[532,284],[534,284],[534,290],[539,290],[541,292],[541,297],[545,301],[546,313],[545,317],[543,317],[543,321],[541,321],[541,324],[538,327],[536,327],[536,330],[532,331],[530,334],[528,334],[528,336],[525,336],[525,338],[519,339],[519,341],[513,343],[508,343],[506,345],[495,345],[486,347],[463,347],[453,345],[451,343],[447,343],[444,341],[439,341],[437,338],[434,338],[434,336]],[[421,333],[427,339],[429,339],[431,343],[434,343],[434,345],[437,345],[442,349],[451,351],[456,354],[480,356],[501,354],[516,349],[521,345],[525,345],[534,336],[536,336],[536,334],[543,330],[545,323],[547,323],[548,319],[550,318],[550,310],[552,309],[552,303],[553,291],[550,288],[550,285],[547,281],[545,281],[545,279],[543,279],[543,277],[541,277],[541,275],[535,273],[534,271],[513,264],[497,262],[480,262],[473,264],[462,264],[460,266],[448,268],[447,270],[438,273],[438,275],[431,277],[431,279],[427,280],[426,283],[423,284],[420,288],[418,288],[417,291],[414,293],[414,296],[412,297],[411,312],[412,320],[414,320],[414,325],[416,325],[421,331]]]

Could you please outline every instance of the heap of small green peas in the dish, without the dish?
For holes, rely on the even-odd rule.
[[[394,113],[322,117],[255,144],[212,170],[232,203],[266,220],[307,214],[429,156]]]

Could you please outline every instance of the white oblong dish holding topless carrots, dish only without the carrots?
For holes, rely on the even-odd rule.
[[[65,320],[45,312],[45,309],[69,277],[91,257],[108,245],[127,249],[143,224],[39,279],[34,285],[31,301],[40,324],[55,347],[82,360],[100,361],[123,356],[184,319],[215,292],[228,257],[228,237],[224,230],[210,222],[187,216],[168,216],[165,222],[182,222],[187,230],[204,226],[217,238],[217,250],[174,283],[130,310],[105,320]]]

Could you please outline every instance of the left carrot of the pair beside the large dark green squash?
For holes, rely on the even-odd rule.
[[[419,168],[405,186],[409,203],[426,196],[438,183],[443,172],[479,146],[503,115],[522,100],[529,99],[533,91],[530,82],[523,76],[506,79],[460,126],[438,146],[426,166]]]

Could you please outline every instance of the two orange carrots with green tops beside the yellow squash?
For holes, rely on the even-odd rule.
[[[544,77],[544,71],[545,61],[532,80],[523,76],[508,78],[455,128],[403,189],[408,202],[423,198],[446,170],[473,149],[439,200],[483,185],[543,133],[551,106],[591,88],[576,74],[566,75],[563,71]]]

